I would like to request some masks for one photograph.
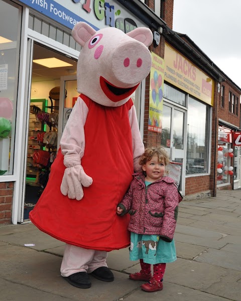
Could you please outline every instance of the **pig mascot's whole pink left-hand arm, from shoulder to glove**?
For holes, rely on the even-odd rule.
[[[84,101],[78,97],[60,140],[66,167],[60,190],[63,195],[68,195],[70,199],[76,200],[83,198],[82,186],[88,187],[93,182],[81,166],[85,147],[84,124],[87,115],[88,108]]]

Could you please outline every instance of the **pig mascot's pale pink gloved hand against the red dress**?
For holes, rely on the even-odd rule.
[[[78,155],[68,155],[68,157],[78,156]],[[65,156],[67,157],[67,156]],[[64,176],[62,179],[62,183],[60,186],[60,191],[64,196],[67,196],[70,199],[76,199],[81,200],[84,196],[82,185],[84,187],[89,187],[93,180],[91,177],[87,176],[80,165],[80,159],[78,157],[78,160],[69,160],[71,158],[65,158],[64,157],[64,165],[72,165],[69,167],[66,167],[64,171]],[[66,160],[67,159],[67,160]],[[75,165],[75,163],[78,162],[78,165]]]

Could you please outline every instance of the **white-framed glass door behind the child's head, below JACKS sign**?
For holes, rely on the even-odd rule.
[[[185,110],[169,103],[163,104],[162,139],[161,144],[170,154],[172,162],[181,166],[179,190],[183,191],[183,166],[184,164],[184,124]],[[184,175],[185,176],[185,175]]]

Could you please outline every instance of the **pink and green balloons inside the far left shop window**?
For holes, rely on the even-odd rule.
[[[13,103],[9,98],[0,98],[0,138],[6,138],[12,131]]]

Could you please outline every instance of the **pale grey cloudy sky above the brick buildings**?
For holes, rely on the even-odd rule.
[[[174,0],[173,30],[189,36],[241,88],[240,13],[240,0]]]

